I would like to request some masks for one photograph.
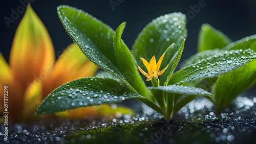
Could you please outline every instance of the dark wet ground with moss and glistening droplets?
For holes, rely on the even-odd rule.
[[[244,95],[247,95],[246,97]],[[233,107],[216,114],[204,98],[191,101],[169,123],[151,108],[130,101],[135,116],[84,117],[83,120],[39,121],[9,125],[1,143],[254,143],[256,97],[245,93]],[[136,104],[135,104],[136,103]]]

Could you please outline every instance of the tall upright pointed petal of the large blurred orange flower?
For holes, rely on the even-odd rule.
[[[11,53],[10,66],[17,84],[25,91],[27,84],[35,77],[45,79],[47,71],[55,61],[52,40],[36,13],[27,6],[26,13],[16,30]]]

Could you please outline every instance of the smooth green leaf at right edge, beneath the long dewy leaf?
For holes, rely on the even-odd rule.
[[[216,106],[221,110],[232,102],[239,93],[256,83],[256,60],[218,78],[214,93]]]

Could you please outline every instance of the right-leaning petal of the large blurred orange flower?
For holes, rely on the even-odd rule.
[[[59,56],[50,76],[43,81],[43,98],[62,84],[82,77],[93,77],[97,70],[98,66],[84,56],[75,43],[70,44]]]

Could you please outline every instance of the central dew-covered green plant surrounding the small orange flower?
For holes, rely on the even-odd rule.
[[[59,6],[58,14],[66,31],[84,55],[118,80],[113,79],[113,76],[87,77],[63,84],[48,95],[36,114],[53,114],[66,109],[134,98],[161,113],[169,121],[199,95],[215,101],[211,93],[183,85],[218,77],[256,58],[256,54],[249,50],[224,51],[204,57],[174,73],[187,36],[184,14],[171,13],[153,19],[138,35],[132,53],[121,39],[125,22],[115,32],[100,20],[76,8]],[[145,59],[141,61],[140,58]],[[159,63],[156,63],[156,58],[160,58]],[[147,63],[150,59],[150,63]],[[139,73],[138,65],[143,74]],[[166,69],[168,65],[171,67]],[[142,69],[150,71],[146,74]],[[151,80],[152,87],[146,87],[146,78]]]

